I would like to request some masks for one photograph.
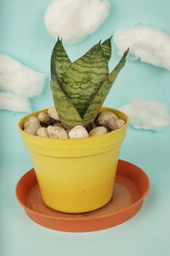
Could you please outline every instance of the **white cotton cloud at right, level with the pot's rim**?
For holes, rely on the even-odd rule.
[[[133,99],[119,109],[127,113],[130,125],[136,129],[161,131],[170,125],[170,116],[163,102]]]

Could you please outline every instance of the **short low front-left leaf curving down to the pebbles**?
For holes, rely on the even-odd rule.
[[[60,82],[57,76],[55,76],[55,80],[51,80],[51,90],[53,92],[56,111],[65,128],[70,129],[76,125],[82,125],[82,118],[77,112],[77,108],[72,105],[70,99],[60,89]]]

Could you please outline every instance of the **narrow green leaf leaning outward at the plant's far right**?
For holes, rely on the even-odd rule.
[[[104,81],[104,83],[99,88],[98,93],[94,97],[94,100],[90,103],[90,106],[88,107],[87,112],[84,114],[82,118],[82,122],[84,126],[88,126],[90,123],[92,123],[99,113],[99,109],[101,108],[103,102],[105,102],[105,98],[108,95],[109,91],[111,90],[111,86],[116,80],[116,77],[118,73],[121,71],[122,67],[124,67],[126,63],[126,58],[128,54],[127,51],[122,55],[121,61],[116,65],[114,70],[109,75],[109,78]]]

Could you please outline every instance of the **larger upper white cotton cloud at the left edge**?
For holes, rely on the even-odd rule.
[[[46,76],[8,55],[0,54],[0,70],[0,89],[26,97],[38,96],[42,92]]]

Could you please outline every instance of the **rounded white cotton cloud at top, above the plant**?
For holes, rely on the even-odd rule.
[[[99,28],[110,5],[108,0],[54,0],[44,15],[45,26],[54,38],[74,44]]]

